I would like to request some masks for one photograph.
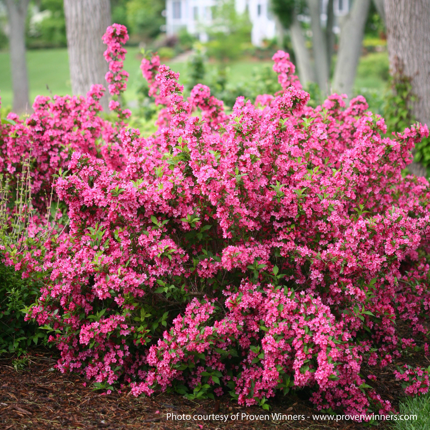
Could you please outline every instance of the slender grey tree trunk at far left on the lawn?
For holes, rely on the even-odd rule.
[[[9,52],[12,71],[13,111],[31,110],[28,102],[27,61],[25,58],[25,19],[29,0],[6,0],[9,15]]]

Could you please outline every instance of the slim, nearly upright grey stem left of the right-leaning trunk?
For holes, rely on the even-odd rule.
[[[323,94],[329,90],[329,61],[327,59],[326,37],[321,28],[321,11],[319,0],[307,0],[311,26],[313,57],[315,58],[316,80]]]

